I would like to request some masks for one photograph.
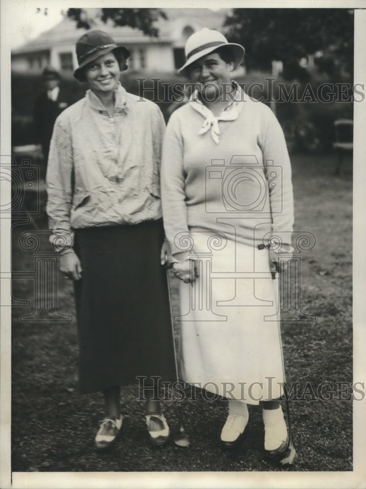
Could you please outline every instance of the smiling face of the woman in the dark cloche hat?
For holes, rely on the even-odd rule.
[[[112,52],[99,56],[85,70],[89,87],[95,93],[115,90],[118,86],[119,75],[119,64]]]

